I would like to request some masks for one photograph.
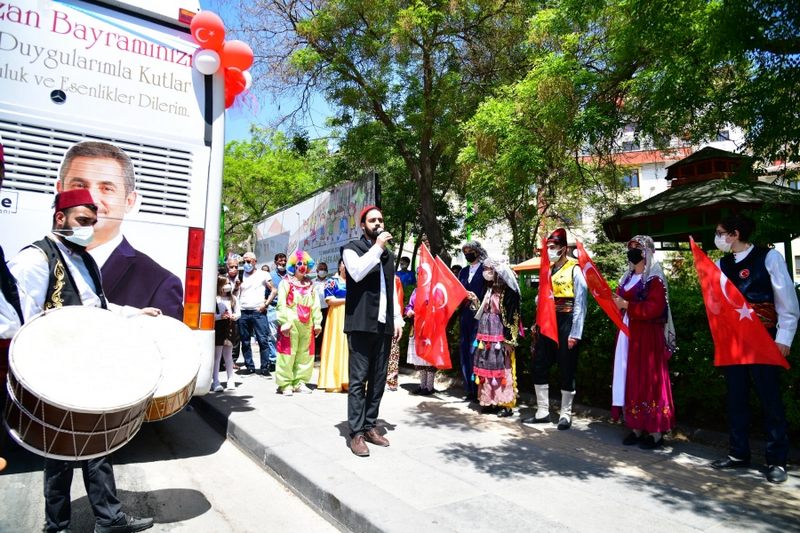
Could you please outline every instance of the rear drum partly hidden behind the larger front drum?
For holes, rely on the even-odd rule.
[[[155,343],[161,359],[161,380],[145,414],[145,422],[168,418],[189,403],[200,370],[200,347],[192,330],[168,316],[130,319],[141,335]]]

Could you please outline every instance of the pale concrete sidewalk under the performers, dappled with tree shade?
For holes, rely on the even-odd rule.
[[[724,449],[674,437],[660,450],[625,447],[624,428],[590,416],[569,431],[529,428],[518,410],[480,414],[458,390],[411,395],[416,381],[401,375],[381,405],[391,446],[359,458],[348,447],[346,394],[283,397],[271,378],[240,381],[193,404],[342,529],[800,530],[800,475],[772,485],[756,463],[717,472],[708,463]]]

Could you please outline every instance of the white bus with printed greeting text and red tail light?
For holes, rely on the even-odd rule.
[[[224,83],[192,66],[197,45],[189,23],[198,11],[197,0],[0,2],[0,244],[13,257],[49,231],[63,187],[59,167],[71,146],[121,148],[133,160],[135,194],[126,196],[121,224],[115,219],[118,235],[179,280],[176,308],[203,347],[195,394],[205,394],[214,351]],[[98,214],[102,219],[102,208]],[[144,272],[136,279],[146,280]],[[104,271],[109,294],[105,278]],[[122,288],[138,290],[137,283]]]

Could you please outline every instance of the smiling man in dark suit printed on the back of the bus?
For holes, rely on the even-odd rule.
[[[180,279],[148,255],[136,250],[120,226],[136,205],[133,162],[113,144],[87,141],[75,144],[64,156],[56,189],[60,193],[88,189],[97,204],[94,240],[87,248],[103,276],[103,290],[112,303],[157,307],[183,320]]]

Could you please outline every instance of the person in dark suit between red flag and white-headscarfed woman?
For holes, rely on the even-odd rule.
[[[474,368],[473,344],[475,335],[478,334],[478,321],[475,320],[477,304],[486,294],[486,279],[483,277],[483,261],[486,251],[478,241],[467,241],[461,245],[461,251],[467,260],[466,267],[458,273],[458,281],[467,289],[467,300],[461,305],[460,326],[461,339],[459,354],[461,355],[461,377],[464,379],[464,391],[467,401],[477,400],[477,387],[472,370]]]

